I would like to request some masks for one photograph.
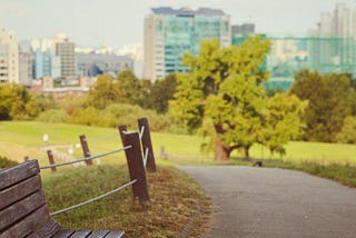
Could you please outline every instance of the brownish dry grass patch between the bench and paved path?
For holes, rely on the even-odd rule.
[[[43,188],[49,209],[55,211],[127,181],[125,166],[92,166],[47,173]],[[177,169],[159,167],[158,172],[148,173],[148,207],[134,204],[131,189],[126,188],[55,219],[65,228],[125,230],[127,237],[197,237],[207,228],[209,200],[192,179]]]

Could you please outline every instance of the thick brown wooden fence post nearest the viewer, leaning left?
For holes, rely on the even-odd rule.
[[[125,153],[129,169],[130,180],[132,181],[137,179],[137,181],[132,185],[134,200],[136,197],[138,197],[139,202],[142,204],[149,200],[149,195],[139,133],[121,133],[120,131],[120,135],[121,140],[123,142],[123,147],[131,146],[131,148],[125,150]]]

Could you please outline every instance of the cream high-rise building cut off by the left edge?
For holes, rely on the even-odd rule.
[[[11,31],[0,29],[0,82],[19,83],[19,44]]]

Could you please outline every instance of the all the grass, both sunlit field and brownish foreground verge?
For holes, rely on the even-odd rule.
[[[49,135],[48,145],[60,145],[57,149],[65,152],[69,146],[79,142],[79,135],[85,133],[90,151],[99,153],[122,147],[117,132],[112,128],[1,121],[0,156],[18,161],[30,156],[39,158],[43,166],[48,163],[43,133]],[[128,237],[174,237],[187,230],[191,231],[187,236],[198,236],[207,224],[209,201],[191,179],[167,165],[216,165],[212,155],[200,152],[205,141],[197,136],[152,132],[151,137],[160,169],[158,173],[148,175],[151,201],[147,209],[134,205],[130,189],[126,189],[56,219],[66,228],[125,230]],[[160,158],[162,148],[169,159]],[[285,157],[278,158],[266,148],[254,146],[250,156],[263,159],[266,167],[301,170],[356,187],[356,145],[293,141],[286,146],[286,151]],[[75,147],[75,156],[82,157],[80,148]],[[236,151],[231,161],[225,165],[251,166],[251,161],[244,161],[241,157],[243,153]],[[50,210],[81,202],[125,184],[128,180],[125,163],[125,155],[118,153],[102,158],[101,166],[60,168],[56,173],[43,171]]]

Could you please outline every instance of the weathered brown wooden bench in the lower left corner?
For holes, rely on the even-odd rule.
[[[0,170],[0,238],[123,237],[123,231],[61,229],[50,217],[37,160]]]

